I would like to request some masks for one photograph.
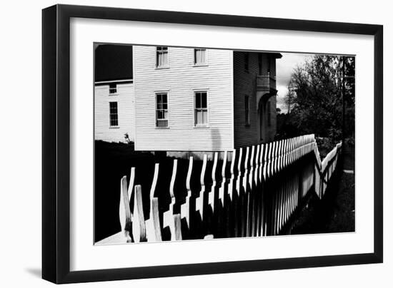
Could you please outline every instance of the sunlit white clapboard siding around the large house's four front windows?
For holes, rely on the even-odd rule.
[[[169,68],[156,68],[156,47],[134,46],[136,150],[212,151],[233,145],[232,51],[169,47]],[[156,128],[155,94],[168,93],[169,127]],[[207,91],[207,128],[194,127],[194,91]]]

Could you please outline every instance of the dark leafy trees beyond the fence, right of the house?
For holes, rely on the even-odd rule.
[[[314,133],[341,140],[343,104],[345,136],[354,135],[354,57],[315,55],[294,68],[288,91],[288,112],[277,115],[277,138]]]

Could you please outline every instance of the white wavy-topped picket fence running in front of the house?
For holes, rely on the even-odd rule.
[[[232,153],[225,151],[221,167],[219,153],[214,153],[209,163],[210,181],[206,180],[210,161],[204,155],[198,191],[191,187],[191,175],[196,173],[193,157],[189,158],[186,179],[178,176],[178,160],[174,159],[167,191],[169,207],[160,205],[156,196],[160,168],[156,163],[146,220],[142,187],[134,185],[135,168],[131,168],[129,182],[124,176],[120,183],[121,232],[96,244],[289,233],[292,218],[309,192],[324,196],[341,148],[342,143],[337,144],[321,160],[314,135],[303,135]],[[174,184],[178,181],[185,181],[184,197],[175,197]]]

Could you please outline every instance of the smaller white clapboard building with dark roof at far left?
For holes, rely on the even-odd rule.
[[[94,138],[134,141],[132,46],[99,45],[94,58]]]

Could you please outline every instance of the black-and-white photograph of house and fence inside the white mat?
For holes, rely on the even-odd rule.
[[[94,244],[355,232],[355,56],[94,43]]]

